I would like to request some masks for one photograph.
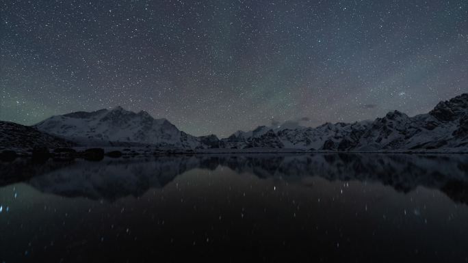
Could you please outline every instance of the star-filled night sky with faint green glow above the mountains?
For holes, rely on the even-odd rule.
[[[468,1],[2,1],[0,120],[121,105],[192,135],[426,113],[468,92]]]

